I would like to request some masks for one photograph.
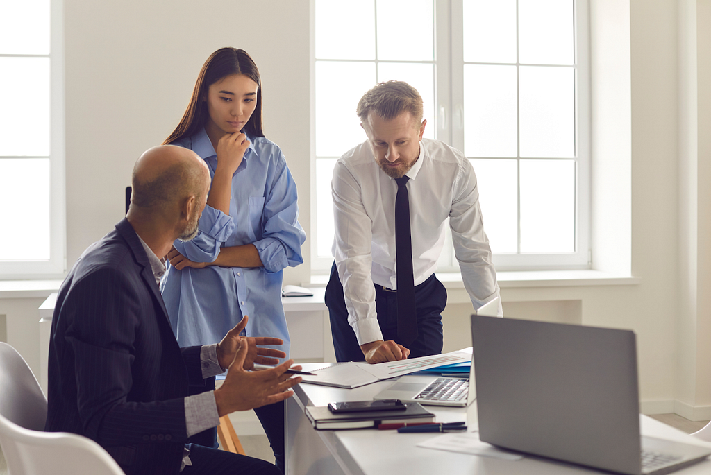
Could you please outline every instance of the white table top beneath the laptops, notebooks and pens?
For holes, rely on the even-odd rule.
[[[295,388],[295,398],[301,408],[304,405],[326,405],[331,401],[370,400],[392,381],[362,386],[352,390],[329,388],[301,383]],[[442,408],[428,405],[427,410],[437,416],[437,422],[467,421],[468,431],[476,430],[476,403],[469,408]],[[641,432],[664,439],[674,439],[704,445],[705,442],[692,439],[684,432],[658,422],[651,417],[641,416]],[[470,454],[444,452],[416,447],[419,442],[437,437],[438,434],[398,434],[393,430],[321,430],[317,431],[332,454],[337,454],[342,466],[353,474],[506,474],[506,475],[555,475],[555,474],[596,474],[594,469],[574,466],[563,462],[525,457],[520,461],[506,461]],[[711,444],[707,444],[711,447]],[[706,460],[682,471],[682,475],[709,474],[711,461]]]

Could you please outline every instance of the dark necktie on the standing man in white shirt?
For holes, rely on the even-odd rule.
[[[397,278],[397,337],[407,346],[417,338],[415,277],[412,274],[412,234],[407,176],[395,178],[395,269]]]

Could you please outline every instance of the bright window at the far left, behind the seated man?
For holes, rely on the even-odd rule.
[[[0,4],[0,277],[64,268],[59,1]]]

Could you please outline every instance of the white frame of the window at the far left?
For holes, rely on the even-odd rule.
[[[63,11],[63,0],[50,0],[48,55],[3,55],[50,58],[50,258],[46,261],[0,261],[1,280],[56,278],[63,276],[67,267]],[[35,157],[22,158],[33,160]]]

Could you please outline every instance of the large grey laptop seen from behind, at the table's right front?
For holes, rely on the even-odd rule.
[[[634,332],[472,315],[471,334],[483,442],[634,475],[711,454],[640,437]]]

